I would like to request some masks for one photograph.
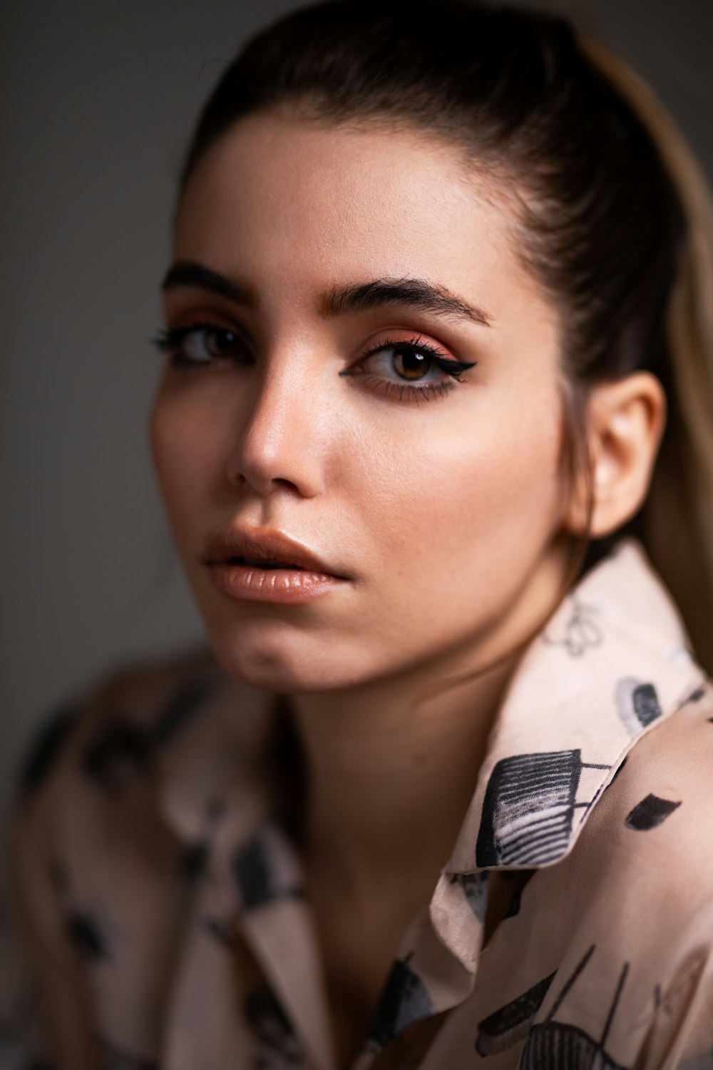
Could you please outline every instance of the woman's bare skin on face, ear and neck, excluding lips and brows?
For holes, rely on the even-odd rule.
[[[247,303],[167,290],[168,324],[223,333],[183,343],[193,364],[169,357],[155,467],[218,660],[292,696],[340,1066],[428,904],[517,646],[558,601],[586,514],[562,476],[559,315],[521,243],[515,200],[448,143],[288,111],[223,135],[177,215],[173,263],[218,273]],[[424,280],[477,315],[328,309],[335,289],[374,279]],[[461,381],[432,365],[435,392],[415,398],[388,348],[414,340],[476,365]],[[604,534],[646,494],[663,392],[645,373],[601,385],[590,417],[592,532]],[[278,529],[348,582],[299,606],[226,597],[202,559],[237,523]]]

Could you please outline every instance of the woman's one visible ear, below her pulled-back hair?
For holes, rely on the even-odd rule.
[[[665,425],[666,395],[648,371],[591,388],[587,439],[593,480],[592,538],[611,534],[644,504]],[[586,496],[582,480],[565,519],[571,534],[584,534]]]

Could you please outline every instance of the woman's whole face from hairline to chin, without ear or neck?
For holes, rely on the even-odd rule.
[[[558,324],[494,181],[420,132],[251,117],[190,180],[165,304],[153,454],[229,672],[339,688],[475,668],[537,626],[561,579]]]

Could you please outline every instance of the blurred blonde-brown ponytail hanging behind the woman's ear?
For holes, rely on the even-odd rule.
[[[648,128],[685,219],[667,309],[668,424],[641,533],[698,658],[713,672],[713,198],[676,123],[646,82],[600,44],[587,41],[583,47]]]

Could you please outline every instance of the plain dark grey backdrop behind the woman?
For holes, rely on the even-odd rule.
[[[241,40],[294,6],[0,10],[0,806],[59,703],[117,663],[202,635],[149,461],[159,358],[148,339],[198,109]],[[710,0],[558,10],[638,66],[713,173]]]

